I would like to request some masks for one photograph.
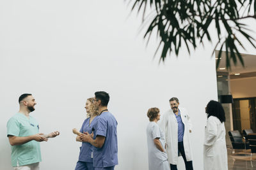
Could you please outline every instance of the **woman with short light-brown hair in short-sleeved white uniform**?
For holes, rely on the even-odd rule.
[[[157,125],[160,119],[158,108],[150,108],[147,116],[149,124],[147,127],[148,141],[148,169],[149,170],[170,170],[167,155],[165,152],[165,139],[163,131]]]

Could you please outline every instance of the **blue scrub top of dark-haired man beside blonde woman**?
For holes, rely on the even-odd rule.
[[[105,111],[101,113],[94,124],[94,138],[105,137],[102,148],[93,146],[93,167],[111,167],[118,164],[117,159],[117,122],[115,117]]]

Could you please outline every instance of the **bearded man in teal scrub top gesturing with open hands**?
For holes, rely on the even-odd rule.
[[[29,113],[35,110],[36,101],[31,94],[19,97],[20,110],[7,123],[7,136],[12,145],[12,166],[15,170],[39,169],[41,159],[40,143],[60,134],[55,131],[50,134],[39,133],[39,125]]]

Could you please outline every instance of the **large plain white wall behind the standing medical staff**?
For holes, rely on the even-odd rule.
[[[159,64],[157,43],[145,48],[140,23],[118,0],[1,1],[0,169],[12,169],[6,122],[23,93],[38,103],[31,115],[40,132],[61,132],[41,144],[41,169],[74,169],[80,144],[72,128],[81,127],[86,98],[97,90],[109,92],[118,121],[117,170],[148,169],[147,110],[166,111],[173,96],[193,119],[193,164],[203,169],[204,108],[217,99],[212,45]]]

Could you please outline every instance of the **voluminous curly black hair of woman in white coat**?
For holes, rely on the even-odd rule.
[[[225,111],[221,104],[218,101],[209,101],[209,103],[206,106],[205,113],[207,113],[207,118],[213,116],[217,117],[220,122],[225,122]]]

